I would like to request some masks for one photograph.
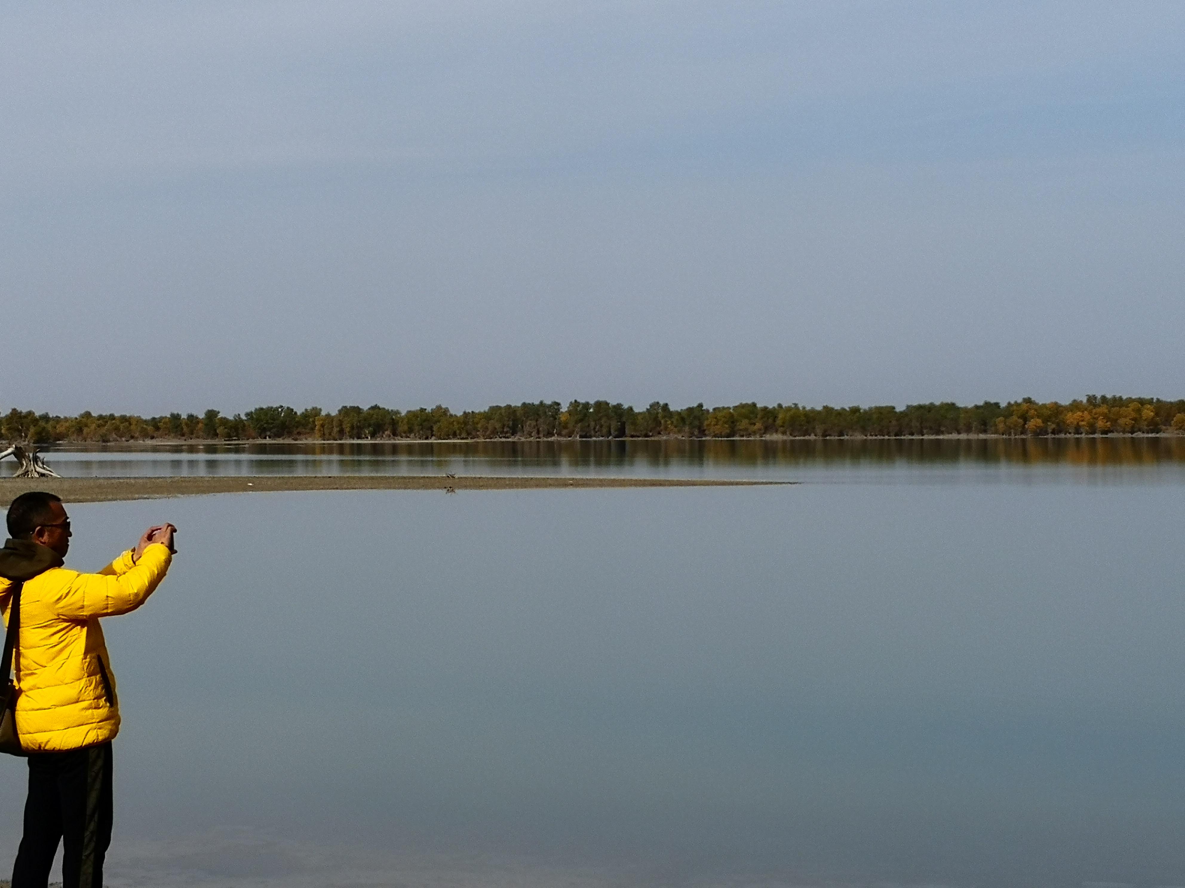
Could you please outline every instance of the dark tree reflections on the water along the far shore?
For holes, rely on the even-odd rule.
[[[103,475],[1155,466],[1185,464],[1185,436],[169,443],[58,445],[46,457],[71,475],[84,464]]]

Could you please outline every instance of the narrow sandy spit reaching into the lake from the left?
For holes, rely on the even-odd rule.
[[[49,490],[65,502],[155,500],[203,494],[262,494],[276,490],[536,490],[543,488],[741,487],[782,481],[718,478],[549,478],[465,475],[264,475],[136,478],[0,478],[0,506],[26,490]]]

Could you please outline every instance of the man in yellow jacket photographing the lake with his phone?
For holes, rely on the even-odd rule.
[[[0,609],[7,624],[14,584],[23,584],[13,662],[17,734],[28,753],[25,835],[12,888],[45,888],[59,841],[63,888],[102,888],[120,709],[98,620],[148,599],[172,561],[175,529],[150,527],[108,567],[78,573],[63,567],[70,519],[57,496],[21,494],[8,508]]]

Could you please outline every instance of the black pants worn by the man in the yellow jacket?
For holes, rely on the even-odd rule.
[[[28,757],[25,836],[12,888],[45,888],[58,841],[63,888],[102,888],[111,844],[111,745]]]

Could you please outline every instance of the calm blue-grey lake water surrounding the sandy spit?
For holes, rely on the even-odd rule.
[[[71,506],[82,570],[180,527],[108,883],[1185,884],[1177,442],[716,444],[51,453],[808,482]]]

